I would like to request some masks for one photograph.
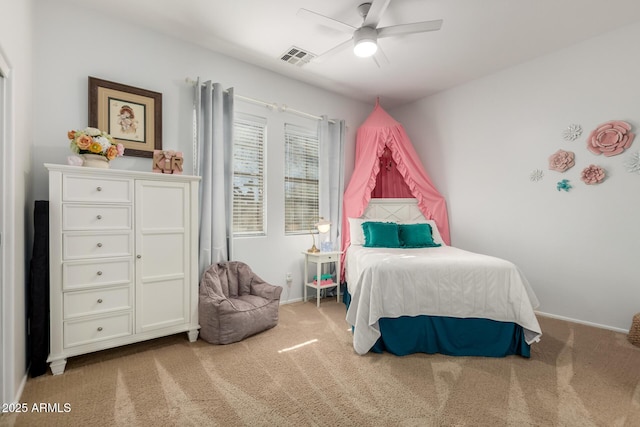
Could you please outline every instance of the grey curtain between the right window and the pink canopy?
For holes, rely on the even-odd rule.
[[[329,239],[334,250],[340,247],[342,189],[344,188],[344,120],[330,121],[322,116],[318,122],[319,205],[321,217],[331,221]]]

